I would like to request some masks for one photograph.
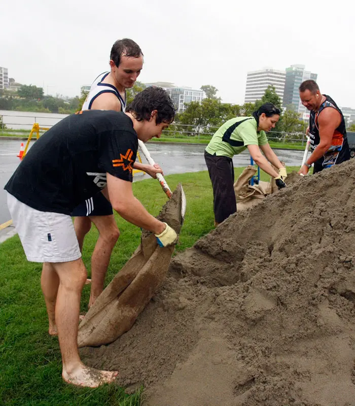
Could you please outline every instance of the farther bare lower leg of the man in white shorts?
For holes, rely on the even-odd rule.
[[[49,335],[57,335],[57,326],[55,324],[55,302],[59,287],[59,277],[50,262],[44,262],[41,275],[41,287],[46,301],[48,314]]]

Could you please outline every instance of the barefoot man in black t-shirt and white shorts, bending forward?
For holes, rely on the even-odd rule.
[[[58,333],[62,377],[68,383],[97,387],[118,374],[93,370],[79,357],[80,296],[87,273],[70,213],[102,190],[124,219],[154,232],[159,245],[174,244],[175,231],[150,215],[132,193],[138,139],[159,138],[173,118],[169,96],[153,87],[138,93],[126,113],[78,112],[35,142],[5,186],[26,257],[43,262],[49,333]]]

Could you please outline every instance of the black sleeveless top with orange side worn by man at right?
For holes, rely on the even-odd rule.
[[[312,110],[310,112],[309,138],[311,150],[314,151],[316,146],[321,141],[319,138],[318,116],[324,109],[331,107],[338,111],[341,115],[341,122],[334,131],[332,144],[329,150],[321,158],[314,162],[314,172],[322,171],[322,169],[326,167],[330,167],[350,159],[350,151],[347,143],[346,126],[343,113],[330,96],[327,94],[324,94],[324,96],[326,97],[326,100],[322,103],[321,107],[319,107],[318,111],[314,112]]]

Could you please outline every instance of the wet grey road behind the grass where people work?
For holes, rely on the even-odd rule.
[[[20,149],[20,140],[0,140],[0,224],[10,220],[10,213],[6,203],[4,186],[20,163],[17,154]],[[179,144],[153,144],[147,143],[149,152],[155,162],[158,162],[164,170],[164,175],[182,174],[185,172],[206,171],[203,158],[203,145],[179,145]],[[300,165],[302,151],[277,150],[277,156],[285,161],[287,166]],[[141,154],[143,162],[146,162]],[[234,166],[245,166],[250,163],[250,155],[242,152],[233,158]],[[147,179],[136,175],[135,180]]]

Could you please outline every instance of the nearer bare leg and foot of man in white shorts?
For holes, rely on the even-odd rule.
[[[86,280],[82,259],[52,263],[59,276],[59,289],[55,306],[60,351],[62,354],[62,377],[65,382],[96,388],[111,383],[117,371],[100,371],[84,365],[79,357],[77,337],[81,291]]]

